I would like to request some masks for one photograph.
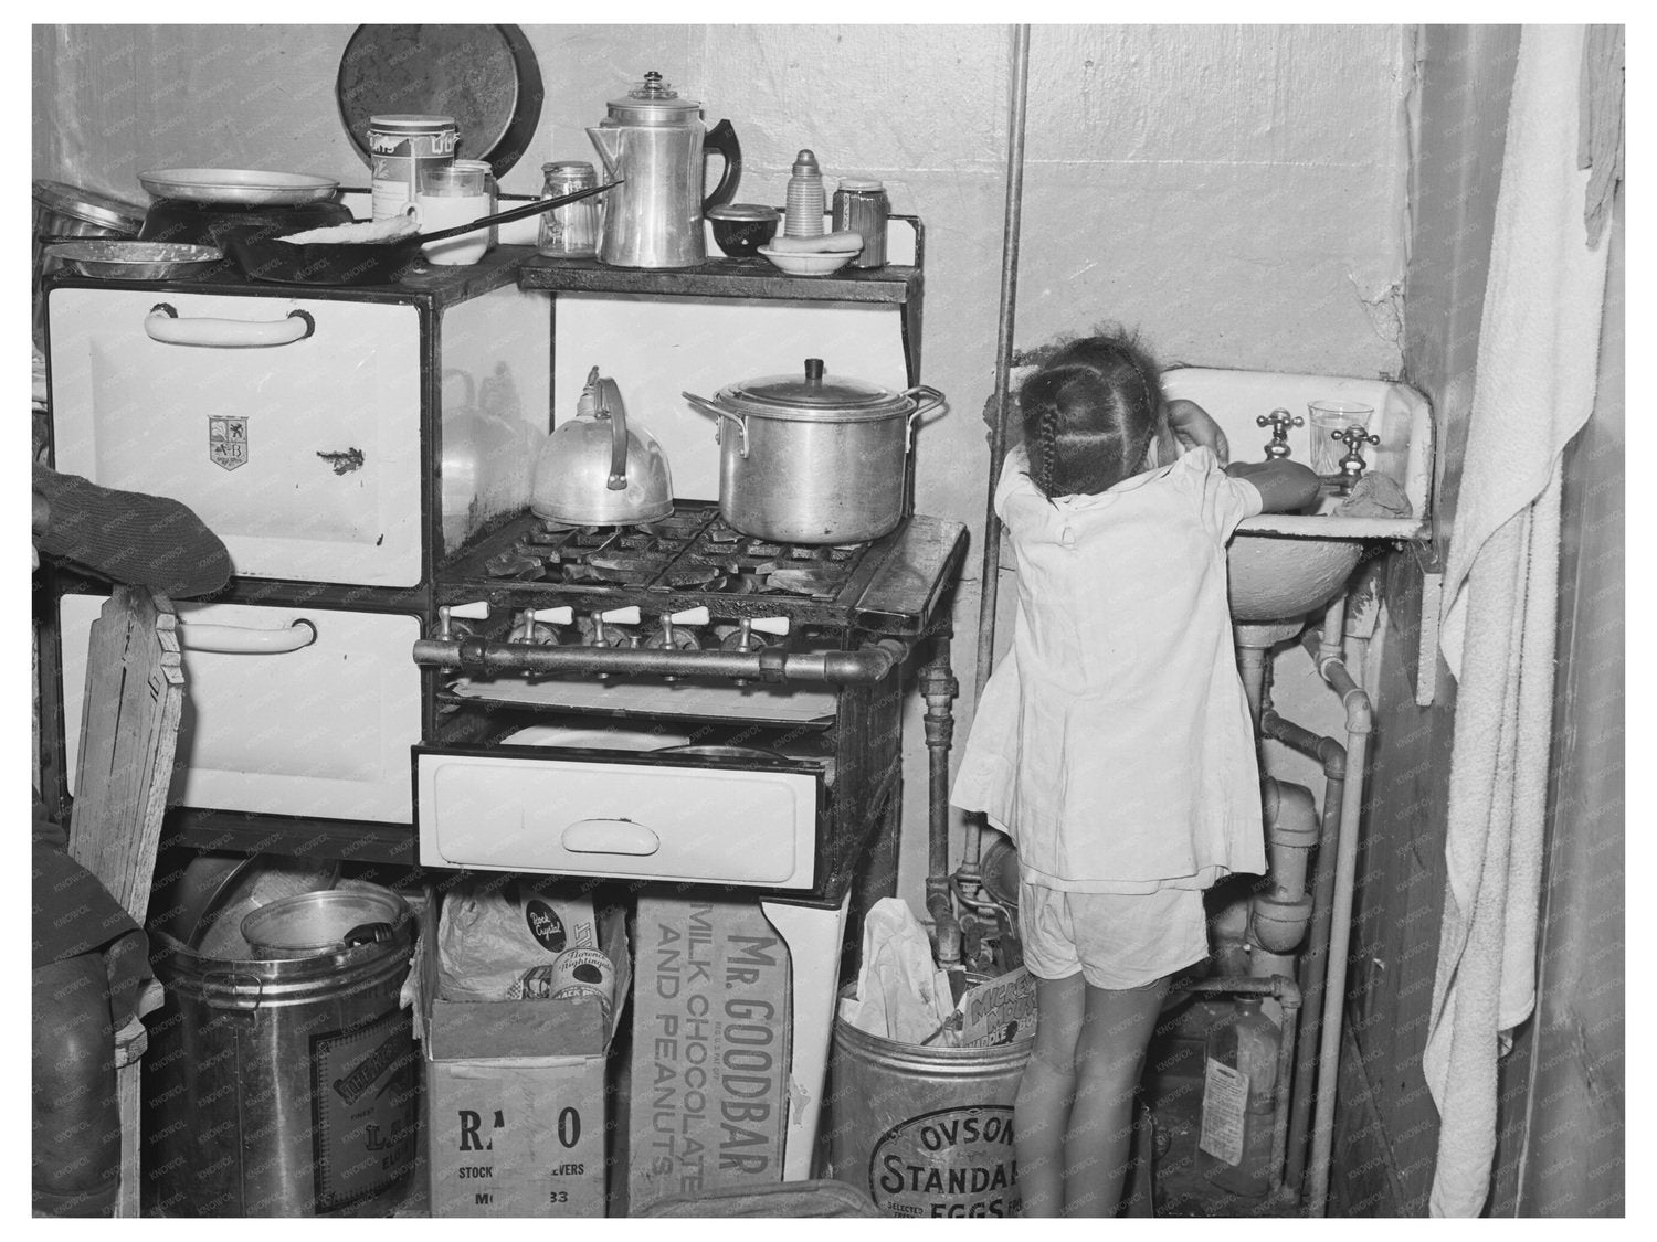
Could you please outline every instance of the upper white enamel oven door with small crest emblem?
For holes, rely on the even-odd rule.
[[[58,288],[48,315],[60,470],[182,500],[249,578],[419,583],[414,306]]]

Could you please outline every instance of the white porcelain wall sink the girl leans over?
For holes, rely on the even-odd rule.
[[[1336,512],[1344,497],[1326,489],[1314,512],[1246,518],[1231,540],[1233,621],[1304,618],[1334,599],[1367,545],[1427,533],[1433,424],[1427,399],[1415,389],[1384,379],[1211,368],[1167,371],[1163,389],[1168,397],[1195,401],[1213,416],[1229,440],[1234,462],[1266,460],[1271,427],[1254,419],[1274,409],[1302,419],[1302,426],[1289,429],[1289,459],[1311,464],[1309,402],[1339,399],[1374,406],[1369,431],[1380,444],[1365,445],[1369,474],[1390,477],[1410,500],[1410,517],[1347,517]]]

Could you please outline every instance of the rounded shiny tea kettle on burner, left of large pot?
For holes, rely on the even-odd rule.
[[[570,527],[625,527],[673,513],[673,475],[656,437],[630,427],[616,381],[587,373],[575,417],[535,459],[530,512]]]

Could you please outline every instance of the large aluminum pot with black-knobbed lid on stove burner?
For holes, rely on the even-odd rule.
[[[925,384],[895,392],[800,374],[683,394],[719,419],[719,512],[744,535],[777,543],[860,543],[903,520],[915,424],[944,402]]]

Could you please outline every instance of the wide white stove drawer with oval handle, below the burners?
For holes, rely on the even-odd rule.
[[[423,866],[809,889],[822,777],[416,753]]]

